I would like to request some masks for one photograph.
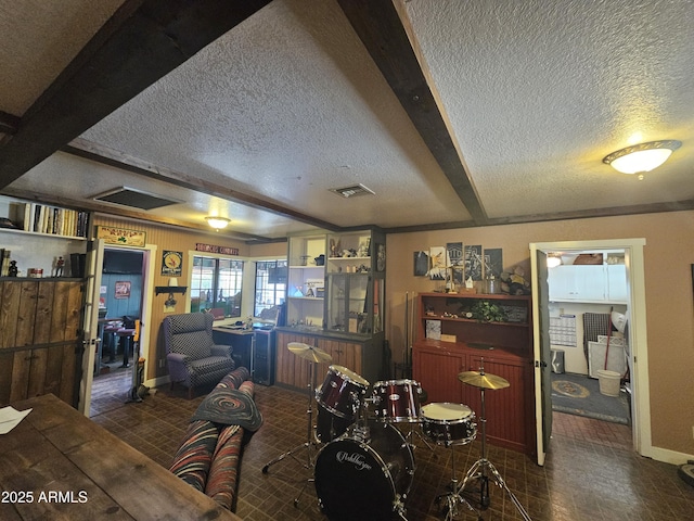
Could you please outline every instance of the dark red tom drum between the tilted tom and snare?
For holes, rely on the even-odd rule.
[[[373,384],[376,419],[382,421],[420,421],[422,387],[414,380],[387,380]]]

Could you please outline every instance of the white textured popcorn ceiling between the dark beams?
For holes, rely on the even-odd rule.
[[[0,111],[28,119],[121,0],[97,3],[0,0]],[[268,239],[692,207],[694,2],[395,3],[481,218],[336,0],[270,2],[65,141],[156,176],[55,152],[0,188],[79,205],[127,186],[185,201],[144,218]],[[602,163],[657,139],[683,144],[643,181]],[[329,192],[356,183],[375,195]]]

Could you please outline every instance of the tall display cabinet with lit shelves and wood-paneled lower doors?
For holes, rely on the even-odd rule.
[[[378,229],[288,238],[286,323],[277,331],[275,383],[306,389],[306,360],[287,350],[310,344],[373,383],[383,378],[385,234]]]

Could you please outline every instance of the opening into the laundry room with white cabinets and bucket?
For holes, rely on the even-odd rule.
[[[625,250],[548,252],[554,432],[579,440],[615,435],[624,445],[632,437],[625,258]],[[563,414],[597,421],[557,422]]]

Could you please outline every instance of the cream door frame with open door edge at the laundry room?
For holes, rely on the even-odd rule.
[[[647,350],[645,327],[645,291],[643,265],[643,239],[616,239],[595,241],[571,241],[532,243],[532,291],[534,298],[534,350],[536,380],[536,425],[538,463],[543,465],[552,432],[551,399],[551,341],[550,298],[547,258],[554,252],[581,253],[587,251],[624,251],[627,283],[627,309],[629,310],[629,372],[631,381],[630,416],[632,425],[632,447],[639,454],[650,455],[651,415],[648,401]],[[639,361],[637,364],[637,360]]]

